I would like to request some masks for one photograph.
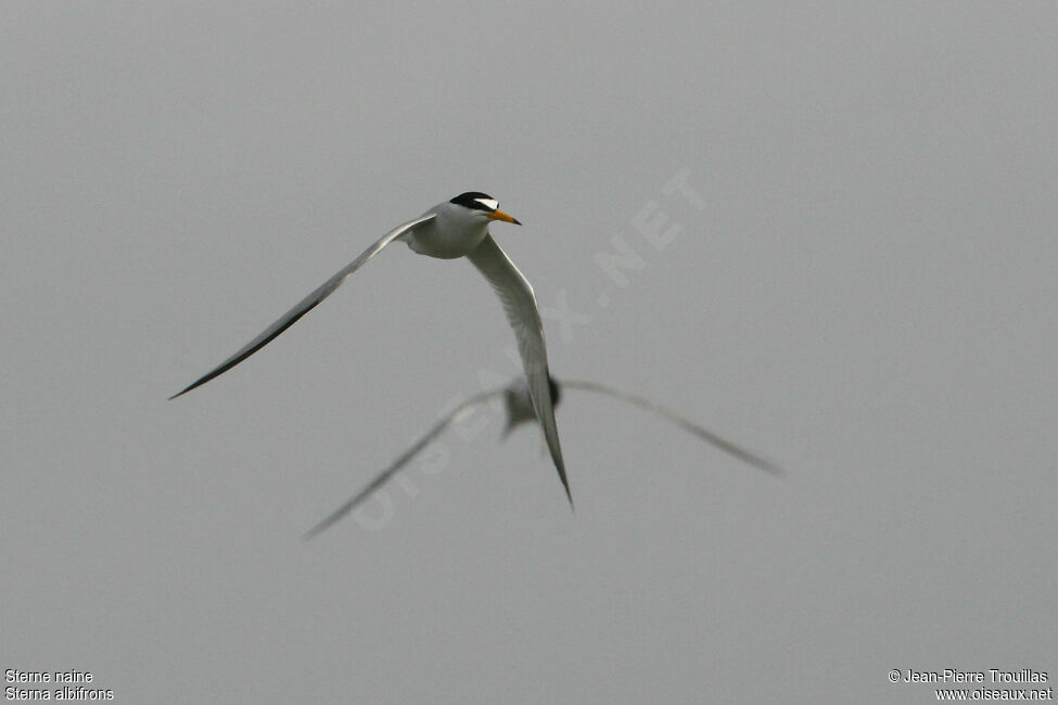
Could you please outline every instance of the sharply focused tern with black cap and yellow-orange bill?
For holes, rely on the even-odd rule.
[[[551,388],[548,384],[544,325],[540,322],[540,313],[536,306],[536,296],[522,272],[514,267],[489,234],[488,225],[494,220],[510,222],[515,226],[522,225],[500,210],[496,198],[477,191],[468,191],[450,201],[437,204],[415,220],[397,226],[368,247],[364,254],[323,282],[316,291],[298,302],[257,337],[169,399],[176,399],[180,395],[187,394],[224,374],[268,345],[293,325],[297,319],[330,296],[349,274],[392,242],[404,241],[413,252],[430,257],[441,259],[467,257],[499,296],[507,319],[514,330],[519,355],[522,358],[522,368],[525,371],[530,401],[535,418],[544,428],[544,437],[551,452],[551,460],[559,472],[559,479],[562,480],[562,487],[565,489],[565,496],[572,507],[573,495],[570,492],[570,483],[565,476],[562,447],[559,445],[559,431],[555,424],[555,408],[551,400]]]

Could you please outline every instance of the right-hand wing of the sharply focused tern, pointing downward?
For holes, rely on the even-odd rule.
[[[492,235],[485,235],[480,245],[467,255],[474,267],[485,275],[493,285],[499,300],[503,304],[507,320],[514,329],[518,338],[518,351],[522,356],[522,367],[528,381],[530,397],[536,418],[544,428],[544,438],[551,451],[551,460],[559,471],[559,479],[565,488],[565,496],[573,505],[573,495],[570,492],[570,482],[565,477],[565,463],[562,461],[562,447],[559,445],[559,430],[555,424],[555,407],[551,402],[551,389],[548,384],[547,347],[544,343],[544,324],[540,312],[536,308],[536,296],[533,287],[518,271],[513,262],[499,248]]]

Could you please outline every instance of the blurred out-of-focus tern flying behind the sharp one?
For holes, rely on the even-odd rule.
[[[650,399],[646,399],[634,394],[628,394],[627,392],[622,392],[621,389],[616,389],[604,384],[599,384],[598,382],[587,382],[583,380],[564,380],[560,382],[555,377],[548,377],[548,386],[550,387],[550,397],[555,406],[558,406],[559,400],[563,397],[563,389],[578,389],[583,392],[595,392],[597,394],[602,394],[664,416],[668,421],[680,426],[684,431],[694,434],[705,443],[712,444],[724,452],[727,452],[759,470],[772,473],[773,475],[782,474],[782,470],[777,465],[751,453],[750,451],[732,444],[729,440],[722,438],[721,436],[717,436],[712,431],[688,421],[684,416],[670,411],[665,407],[651,401]],[[411,447],[405,450],[388,467],[375,475],[374,479],[368,483],[347,502],[334,510],[330,515],[327,516],[327,518],[309,529],[303,538],[308,540],[330,528],[335,522],[364,503],[364,501],[367,500],[377,489],[382,487],[391,478],[393,478],[394,475],[400,472],[400,470],[411,462],[411,460],[426,446],[429,446],[434,438],[444,433],[454,423],[468,416],[472,411],[474,411],[474,409],[488,403],[495,398],[503,398],[505,411],[507,412],[507,422],[503,426],[502,434],[505,438],[519,425],[528,423],[531,421],[537,421],[538,416],[534,412],[533,400],[530,393],[531,388],[525,384],[525,380],[522,377],[515,377],[507,386],[488,389],[470,397],[461,405],[456,407],[451,412],[443,416],[430,431],[411,444]]]

